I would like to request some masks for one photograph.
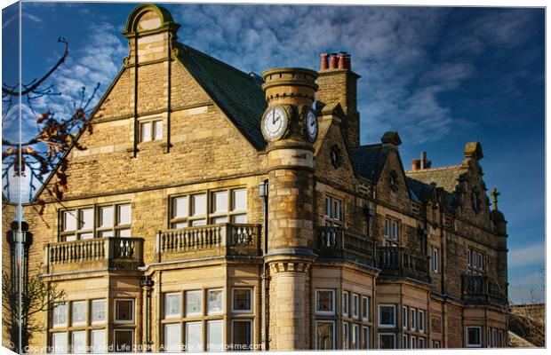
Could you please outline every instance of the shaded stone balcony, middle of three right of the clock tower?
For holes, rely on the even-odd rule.
[[[380,276],[407,277],[430,282],[428,276],[428,256],[419,256],[403,247],[378,247]]]

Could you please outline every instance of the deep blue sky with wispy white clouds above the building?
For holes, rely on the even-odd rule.
[[[23,3],[23,73],[44,73],[70,40],[52,77],[63,95],[43,100],[57,113],[82,86],[108,87],[127,47],[120,31],[135,4]],[[421,150],[433,166],[456,164],[480,141],[489,189],[502,193],[508,221],[510,296],[543,299],[545,264],[545,99],[542,9],[165,4],[180,42],[245,72],[318,68],[324,51],[348,51],[358,86],[363,144],[398,130],[406,168]],[[4,36],[13,26],[6,24]],[[5,37],[4,37],[5,38]],[[4,67],[6,64],[4,40]],[[5,71],[4,71],[5,73]],[[4,74],[4,82],[10,78]],[[27,117],[31,117],[27,114]],[[4,125],[4,134],[12,126]],[[26,126],[29,134],[33,127]]]

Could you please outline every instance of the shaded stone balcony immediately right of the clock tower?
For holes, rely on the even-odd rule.
[[[314,233],[319,256],[375,266],[375,242],[371,238],[337,226],[316,226]]]

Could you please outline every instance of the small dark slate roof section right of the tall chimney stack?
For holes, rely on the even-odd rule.
[[[389,151],[390,148],[382,144],[350,148],[355,173],[371,181],[379,180]]]

